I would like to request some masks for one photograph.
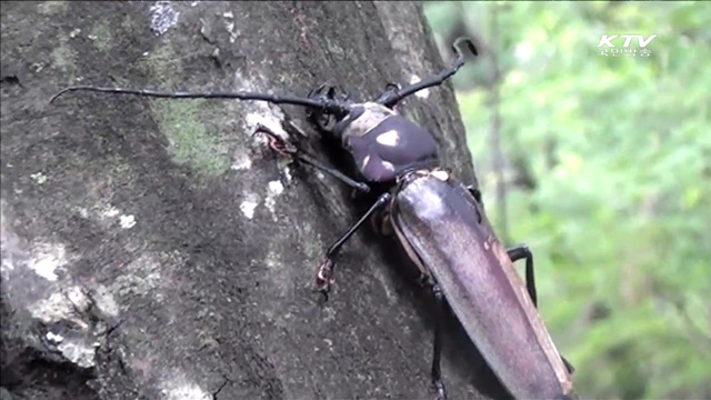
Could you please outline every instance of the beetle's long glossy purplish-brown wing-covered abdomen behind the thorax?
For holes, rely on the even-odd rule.
[[[492,370],[520,399],[555,399],[570,377],[483,210],[444,171],[415,173],[393,199],[403,246],[439,282]]]

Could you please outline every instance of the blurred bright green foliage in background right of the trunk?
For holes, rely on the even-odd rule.
[[[424,8],[443,51],[464,27],[495,52],[500,79],[491,52],[470,61],[459,104],[490,216],[500,113],[508,216],[494,223],[531,247],[541,314],[578,390],[711,398],[711,4]],[[649,57],[604,57],[603,34],[658,37]]]

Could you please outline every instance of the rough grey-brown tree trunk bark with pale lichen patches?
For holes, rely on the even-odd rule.
[[[444,66],[415,4],[2,2],[1,52],[3,400],[432,397],[430,298],[393,241],[359,233],[331,299],[312,291],[362,210],[250,137],[284,119],[313,134],[302,109],[48,103],[77,83],[372,98]],[[449,82],[402,111],[475,182]],[[500,393],[452,332],[450,398]]]

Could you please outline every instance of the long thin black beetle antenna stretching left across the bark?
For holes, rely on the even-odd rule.
[[[211,93],[189,93],[189,92],[160,92],[143,89],[123,89],[123,88],[100,88],[92,86],[76,86],[62,89],[59,93],[52,96],[49,102],[53,102],[60,96],[72,91],[91,91],[114,94],[134,94],[142,97],[153,97],[163,99],[238,99],[238,100],[261,100],[274,104],[294,104],[314,109],[321,109],[329,113],[346,113],[348,106],[337,100],[330,99],[307,99],[293,96],[278,96],[256,92],[211,92]]]

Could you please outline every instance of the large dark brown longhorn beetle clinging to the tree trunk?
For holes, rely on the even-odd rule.
[[[158,92],[90,86],[70,91],[124,93],[169,99],[261,100],[307,108],[309,120],[322,137],[336,140],[350,154],[358,178],[319,161],[273,131],[260,126],[270,147],[311,164],[359,192],[378,200],[327,251],[319,266],[317,286],[328,296],[334,259],[343,244],[372,217],[381,217],[394,230],[408,256],[419,268],[437,302],[431,378],[437,397],[447,398],[440,371],[442,311],[447,301],[469,338],[499,380],[519,399],[573,399],[573,368],[555,349],[537,311],[533,256],[525,246],[504,249],[489,223],[481,193],[440,166],[432,134],[400,116],[394,107],[408,96],[440,86],[464,64],[462,46],[478,56],[467,38],[452,44],[457,59],[440,73],[400,87],[389,83],[374,100],[354,102],[333,87],[321,86],[308,97],[254,92]],[[525,283],[513,262],[525,259]]]

